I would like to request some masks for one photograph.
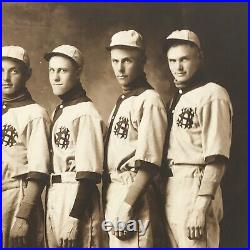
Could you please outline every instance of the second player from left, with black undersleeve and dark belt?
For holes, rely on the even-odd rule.
[[[81,52],[61,45],[45,54],[53,93],[53,171],[47,194],[48,247],[100,247],[104,123],[80,82]]]

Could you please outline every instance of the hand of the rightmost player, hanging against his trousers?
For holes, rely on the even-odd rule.
[[[199,240],[204,236],[206,213],[201,209],[193,209],[186,222],[186,235],[190,240]]]

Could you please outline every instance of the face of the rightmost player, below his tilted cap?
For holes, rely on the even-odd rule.
[[[199,69],[201,56],[197,48],[187,44],[171,47],[167,53],[169,69],[177,80],[177,87],[185,87],[189,80]]]

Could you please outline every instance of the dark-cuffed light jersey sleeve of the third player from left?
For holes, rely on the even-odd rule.
[[[145,164],[161,166],[166,130],[167,114],[163,104],[146,103],[143,106],[138,127],[135,153],[137,167],[145,166]]]

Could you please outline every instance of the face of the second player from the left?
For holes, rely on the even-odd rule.
[[[54,95],[63,95],[79,81],[80,69],[63,56],[53,56],[49,61],[49,80]]]

